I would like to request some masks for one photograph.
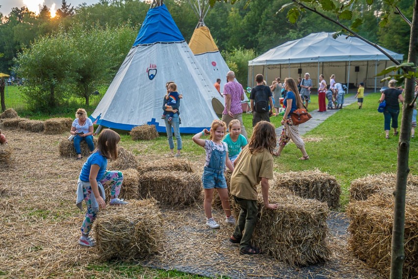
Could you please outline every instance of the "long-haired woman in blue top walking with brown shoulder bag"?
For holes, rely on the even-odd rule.
[[[299,160],[309,160],[309,155],[305,150],[305,142],[303,142],[299,135],[299,127],[298,125],[293,125],[292,118],[290,117],[290,113],[303,108],[302,99],[297,91],[297,85],[292,78],[288,78],[285,81],[285,88],[287,89],[287,95],[283,104],[286,106],[286,111],[281,122],[284,127],[280,135],[279,149],[273,155],[280,156],[287,142],[292,140],[302,152],[302,157]]]

